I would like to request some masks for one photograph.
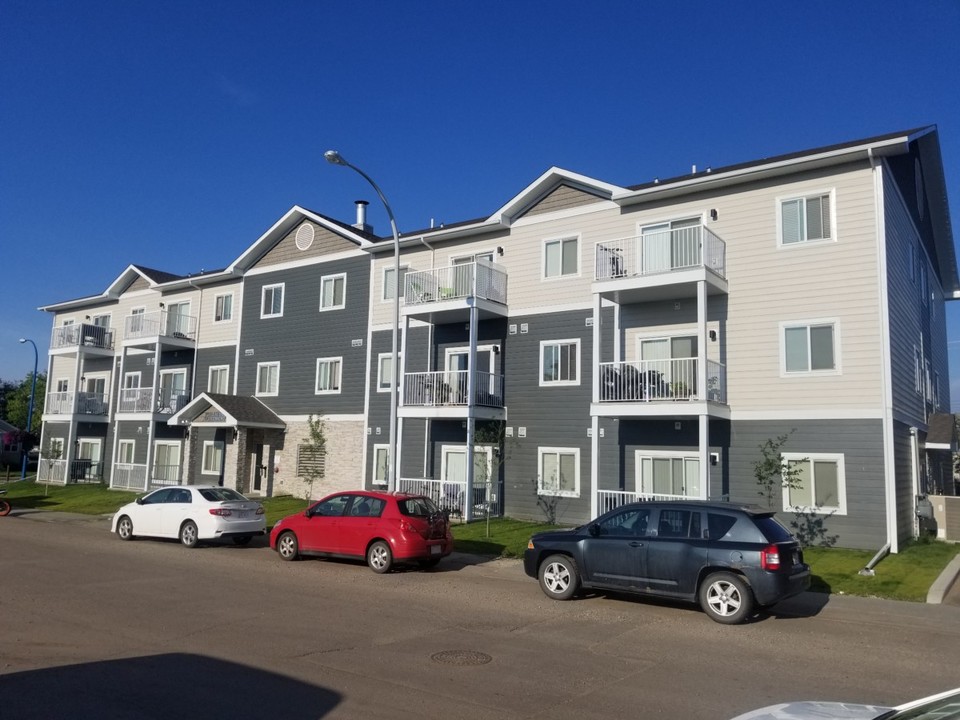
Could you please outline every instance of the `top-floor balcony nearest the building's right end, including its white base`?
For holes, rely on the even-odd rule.
[[[593,291],[617,302],[727,291],[726,243],[702,225],[598,242],[595,260]]]

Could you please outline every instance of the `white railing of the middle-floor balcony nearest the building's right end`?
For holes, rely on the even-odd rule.
[[[600,363],[600,402],[697,400],[697,358]],[[725,367],[707,361],[707,398],[726,401]]]

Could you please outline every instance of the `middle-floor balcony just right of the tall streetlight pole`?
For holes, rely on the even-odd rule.
[[[402,417],[467,416],[467,408],[475,409],[475,417],[503,418],[503,375],[474,372],[473,398],[467,391],[469,370],[434,370],[404,373],[400,398]]]

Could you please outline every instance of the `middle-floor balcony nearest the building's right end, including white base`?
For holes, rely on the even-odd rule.
[[[697,379],[700,361],[697,358],[674,358],[672,360],[642,360],[638,362],[600,363],[599,415],[656,415],[699,414],[702,408],[693,409],[693,403],[708,400],[726,404],[726,367],[707,360],[707,397],[697,394]],[[682,408],[686,404],[691,409]],[[610,412],[614,406],[631,411]],[[659,406],[659,409],[657,407]],[[665,410],[664,406],[669,409]]]

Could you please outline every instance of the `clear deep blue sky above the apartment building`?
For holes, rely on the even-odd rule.
[[[956,0],[0,0],[0,378],[22,336],[45,367],[38,306],[130,263],[223,267],[295,204],[352,222],[375,198],[330,148],[402,232],[554,165],[629,185],[937,124],[960,226],[958,38]]]

